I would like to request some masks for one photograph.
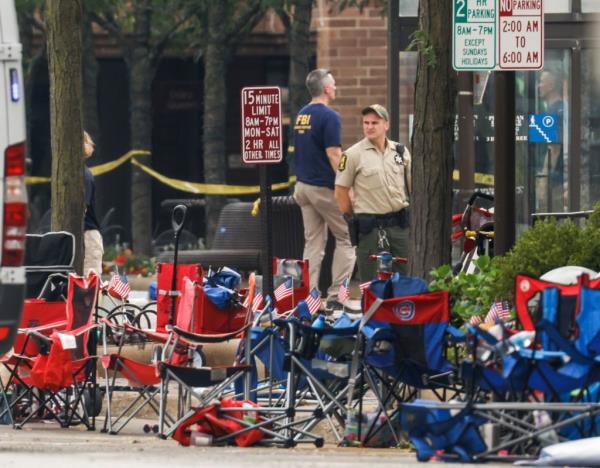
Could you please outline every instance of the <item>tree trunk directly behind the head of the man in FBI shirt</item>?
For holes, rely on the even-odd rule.
[[[294,146],[294,119],[302,106],[310,100],[305,81],[306,75],[310,72],[310,59],[313,54],[310,43],[312,3],[312,0],[295,0],[294,11],[290,18],[288,31],[290,49],[288,147]],[[291,162],[288,157],[290,173],[293,172]]]

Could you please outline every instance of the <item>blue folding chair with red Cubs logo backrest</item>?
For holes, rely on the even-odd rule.
[[[392,432],[397,403],[414,400],[419,390],[430,390],[440,400],[464,391],[456,365],[446,355],[449,345],[464,341],[462,333],[448,323],[448,293],[425,291],[422,280],[394,275],[373,282],[365,292],[355,356],[362,362],[362,379],[375,395],[378,414]],[[381,297],[390,293],[392,297]],[[397,294],[400,297],[394,297]],[[363,437],[359,428],[360,437],[368,444],[375,425],[364,430]]]

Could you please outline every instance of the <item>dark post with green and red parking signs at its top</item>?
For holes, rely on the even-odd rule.
[[[515,70],[544,68],[544,0],[453,0],[455,70],[495,70],[495,241],[515,241]]]

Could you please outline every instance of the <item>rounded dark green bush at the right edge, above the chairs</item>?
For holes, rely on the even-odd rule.
[[[514,295],[519,273],[539,277],[566,265],[600,270],[600,203],[583,229],[571,221],[539,221],[523,233],[508,254],[494,260],[500,270],[495,293],[507,299]]]

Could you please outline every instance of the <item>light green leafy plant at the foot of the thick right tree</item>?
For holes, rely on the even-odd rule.
[[[494,290],[499,271],[494,262],[484,255],[475,261],[475,265],[478,272],[473,274],[461,272],[454,275],[450,265],[442,265],[430,273],[430,291],[448,291],[451,321],[457,326],[475,315],[483,319],[496,299]]]

